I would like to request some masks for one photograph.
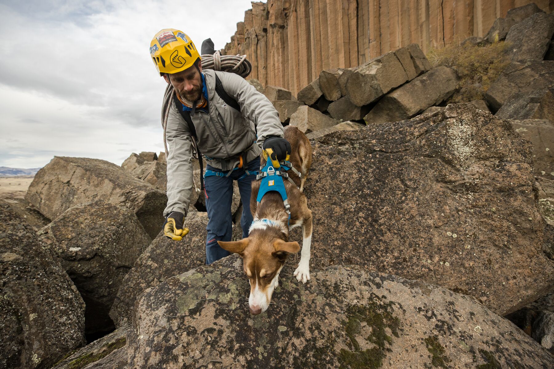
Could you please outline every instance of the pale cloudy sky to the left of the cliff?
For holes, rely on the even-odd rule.
[[[162,28],[223,48],[250,0],[0,0],[0,167],[163,151]]]

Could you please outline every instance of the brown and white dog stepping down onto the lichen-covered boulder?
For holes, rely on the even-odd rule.
[[[306,195],[302,191],[311,166],[312,149],[310,140],[296,127],[286,127],[285,138],[290,142],[290,162],[301,173],[299,178],[292,170],[288,171],[296,185],[284,180],[290,204],[290,224],[281,195],[273,191],[268,192],[257,204],[260,181],[253,181],[250,210],[254,214],[254,221],[250,226],[249,236],[234,242],[218,241],[219,246],[229,252],[238,253],[243,258],[244,272],[250,280],[248,303],[253,315],[268,309],[271,295],[279,284],[279,273],[286,258],[289,254],[300,251],[298,242],[289,242],[289,230],[294,227],[301,226],[303,236],[300,263],[294,271],[294,276],[302,283],[310,279],[312,215],[307,206]]]

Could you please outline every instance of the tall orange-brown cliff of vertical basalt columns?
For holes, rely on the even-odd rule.
[[[255,2],[244,13],[244,22],[237,23],[223,54],[247,54],[251,78],[296,95],[322,70],[362,65],[413,43],[428,53],[469,36],[483,37],[496,18],[513,22],[529,17],[536,6],[507,13],[531,3],[547,13],[554,11],[550,0]]]

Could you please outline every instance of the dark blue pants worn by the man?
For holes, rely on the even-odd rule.
[[[246,165],[249,171],[260,170],[260,158],[256,158]],[[219,171],[207,165],[207,170]],[[227,171],[223,173],[228,173]],[[251,184],[256,180],[254,174],[246,175],[244,169],[235,169],[228,177],[204,176],[204,188],[206,189],[206,209],[208,211],[208,235],[206,236],[206,264],[211,264],[230,252],[223,250],[217,241],[230,241],[233,231],[233,219],[231,214],[231,201],[233,200],[233,180],[238,180],[240,199],[243,204],[243,214],[240,225],[243,229],[243,238],[248,237],[248,230],[252,225],[253,217],[250,212]],[[244,178],[240,179],[240,177]]]

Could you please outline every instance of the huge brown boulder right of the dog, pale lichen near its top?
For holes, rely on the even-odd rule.
[[[509,121],[449,105],[312,148],[312,267],[375,266],[473,295],[499,315],[551,288],[532,145]]]

